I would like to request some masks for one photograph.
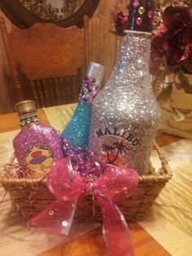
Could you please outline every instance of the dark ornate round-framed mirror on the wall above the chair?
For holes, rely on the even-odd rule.
[[[20,29],[35,23],[58,24],[60,27],[83,26],[83,15],[94,14],[99,0],[1,0],[0,8]]]

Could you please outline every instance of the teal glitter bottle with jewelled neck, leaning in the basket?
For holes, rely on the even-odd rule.
[[[61,137],[67,139],[72,146],[81,148],[81,150],[88,148],[91,106],[94,98],[98,95],[103,73],[103,65],[90,62],[81,87],[80,101],[71,120],[61,133]]]

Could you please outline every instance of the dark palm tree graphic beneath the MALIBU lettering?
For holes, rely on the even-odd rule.
[[[127,151],[129,151],[129,148],[127,148],[122,142],[121,143],[115,142],[112,145],[103,144],[102,148],[103,148],[103,152],[107,152],[107,160],[108,160],[107,164],[112,164],[115,166],[116,166],[115,161],[119,157],[119,155],[122,154],[123,152],[126,153]],[[117,149],[116,156],[113,159],[111,159],[110,152],[113,153],[116,149]]]

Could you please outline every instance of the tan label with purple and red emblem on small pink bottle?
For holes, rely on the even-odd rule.
[[[28,148],[25,154],[27,172],[33,178],[44,177],[50,171],[53,161],[54,154],[45,144],[37,143]]]

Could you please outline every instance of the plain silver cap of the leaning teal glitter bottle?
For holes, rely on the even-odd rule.
[[[96,80],[96,84],[99,86],[103,80],[104,66],[102,64],[95,63],[91,61],[89,63],[89,68],[86,75],[88,77],[93,77]]]

